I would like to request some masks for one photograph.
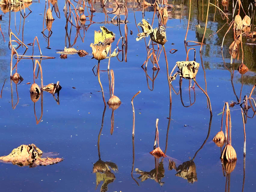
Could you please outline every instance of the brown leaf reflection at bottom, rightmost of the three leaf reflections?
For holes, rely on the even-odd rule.
[[[182,177],[188,182],[195,182],[197,181],[197,174],[196,174],[196,164],[193,161],[186,161],[179,165],[176,169],[178,173],[175,175],[178,177]]]

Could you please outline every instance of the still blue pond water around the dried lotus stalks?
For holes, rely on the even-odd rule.
[[[211,100],[213,114],[211,117],[209,108],[207,108],[206,95],[197,86],[195,89],[189,88],[189,80],[186,79],[183,79],[181,86],[183,105],[181,92],[176,95],[173,90],[172,105],[170,105],[163,51],[158,61],[160,69],[153,71],[151,69],[153,64],[149,60],[148,76],[146,75],[141,65],[147,58],[146,44],[150,37],[146,37],[146,41],[144,39],[136,41],[138,34],[136,24],[143,18],[142,8],[138,7],[137,2],[135,12],[133,12],[133,1],[127,2],[127,25],[121,23],[117,26],[116,23],[110,22],[115,16],[112,12],[117,8],[116,3],[107,1],[106,9],[102,9],[101,1],[97,1],[94,4],[96,12],[93,13],[93,23],[89,25],[90,22],[86,21],[86,26],[79,30],[76,30],[74,26],[71,29],[70,23],[65,30],[66,18],[63,12],[65,1],[59,0],[57,3],[60,18],[53,11],[55,20],[52,23],[52,34],[45,26],[44,12],[45,6],[46,10],[48,7],[45,1],[33,1],[29,5],[32,12],[29,14],[29,9],[25,9],[25,19],[20,16],[19,10],[9,12],[2,7],[0,11],[2,14],[1,30],[6,40],[4,42],[0,35],[0,88],[3,86],[0,99],[0,156],[8,155],[12,149],[22,144],[34,143],[44,153],[56,152],[57,155],[54,157],[64,159],[54,165],[34,168],[0,163],[2,191],[224,191],[225,185],[230,191],[256,190],[253,179],[256,172],[254,166],[256,162],[255,118],[247,118],[245,124],[247,137],[246,158],[244,159],[241,107],[235,105],[230,108],[232,146],[237,154],[236,167],[232,173],[224,173],[220,160],[223,147],[218,147],[212,141],[221,128],[222,115],[220,113],[224,103],[232,101],[238,103],[240,91],[242,102],[244,95],[249,96],[256,83],[255,49],[252,45],[245,44],[245,37],[243,37],[244,64],[249,71],[241,76],[236,70],[241,64],[241,50],[239,60],[236,59],[230,67],[229,45],[233,42],[232,30],[226,35],[223,44],[225,61],[223,63],[221,44],[229,25],[225,25],[226,19],[222,19],[223,15],[218,9],[215,12],[215,7],[210,5],[207,34],[204,40],[206,45],[202,47],[203,62],[199,54],[200,46],[192,46],[196,49],[196,61],[200,63],[196,80],[203,89],[206,88],[207,82],[207,93]],[[75,1],[72,3],[75,6],[77,4]],[[177,61],[186,60],[186,50],[191,47],[186,47],[184,44],[189,1],[169,1],[168,3],[174,6],[174,11],[169,10],[165,26],[167,37],[165,49],[170,72]],[[214,2],[211,3],[214,4]],[[52,4],[50,6],[53,7]],[[223,10],[220,3],[219,6]],[[245,10],[248,6],[248,3],[244,3]],[[253,8],[255,8],[254,5]],[[231,6],[229,10],[232,12]],[[109,13],[107,14],[109,18],[106,17],[104,11]],[[72,12],[75,13],[74,10]],[[91,15],[90,10],[89,13]],[[59,16],[58,12],[57,14]],[[88,15],[87,10],[84,14]],[[144,19],[151,23],[153,14],[153,7],[145,8]],[[205,26],[206,15],[207,2],[204,4],[202,1],[192,2],[187,40],[202,41],[204,28],[197,25],[199,23],[201,27]],[[121,20],[125,19],[124,14],[120,17]],[[229,14],[229,17],[232,16]],[[72,21],[75,23],[73,16]],[[223,25],[225,26],[221,29]],[[125,27],[128,31],[127,52],[125,53],[125,46],[123,46],[123,59],[122,52],[119,52],[118,59],[116,57],[110,59],[110,69],[113,69],[115,76],[114,93],[122,102],[120,107],[113,112],[108,105],[104,106],[98,78],[92,71],[94,65],[98,63],[97,60],[91,59],[93,56],[90,44],[94,42],[94,31],[100,30],[100,26],[107,27],[116,35],[112,43],[112,51],[121,35],[125,37]],[[41,94],[38,102],[31,101],[30,86],[33,83],[34,60],[21,59],[17,66],[23,81],[17,86],[11,82],[9,27],[26,45],[33,43],[37,36],[42,54],[55,57],[55,59],[41,60],[41,66],[44,85],[60,82],[62,89],[59,92],[59,105],[52,94],[47,92]],[[153,28],[155,27],[158,27],[157,16],[154,18]],[[43,35],[41,31],[44,29],[46,30]],[[212,34],[219,29],[221,30],[217,34]],[[139,30],[142,32],[140,28]],[[131,34],[130,31],[133,33]],[[122,40],[118,44],[119,49],[122,49],[121,42]],[[12,44],[14,48],[17,48],[15,42]],[[188,43],[188,45],[192,44],[194,43]],[[61,59],[60,54],[56,52],[63,50],[65,46],[77,50],[83,49],[89,54],[85,57],[68,54],[67,59]],[[154,46],[157,49],[157,45]],[[28,47],[25,55],[30,56],[32,46]],[[161,47],[159,45],[160,49]],[[171,54],[169,53],[171,49],[178,51]],[[20,46],[17,52],[22,55],[25,50],[24,46]],[[37,44],[34,55],[40,55]],[[193,50],[189,52],[189,59],[192,60],[192,58]],[[102,70],[100,78],[106,101],[110,97],[108,61],[108,59],[101,60],[100,65],[100,70]],[[16,59],[13,63],[14,66]],[[230,72],[233,66],[235,70]],[[31,84],[27,84],[29,82]],[[35,82],[40,85],[40,73]],[[178,93],[179,78],[172,82],[172,86]],[[141,93],[133,100],[135,108],[135,137],[133,139],[131,99],[138,91]],[[57,94],[55,97],[57,99]],[[256,97],[255,91],[252,97]],[[253,111],[248,110],[248,115],[251,117]],[[149,153],[154,146],[157,118],[159,119],[159,146],[167,155],[166,158],[159,159]],[[118,169],[94,173],[93,163],[99,159],[106,163],[115,163]],[[177,169],[171,169],[169,162],[175,162]]]

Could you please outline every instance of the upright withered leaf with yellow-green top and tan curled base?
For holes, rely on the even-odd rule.
[[[91,43],[90,45],[93,52],[93,57],[97,60],[116,57],[118,54],[118,52],[116,52],[118,47],[114,49],[110,56],[108,56],[110,46],[115,39],[115,34],[104,26],[101,26],[101,30],[102,31],[94,32],[94,44]]]

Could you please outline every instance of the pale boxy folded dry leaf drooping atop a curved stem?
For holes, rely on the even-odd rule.
[[[194,79],[199,69],[196,61],[178,61],[177,67],[180,69],[180,76],[184,79]]]

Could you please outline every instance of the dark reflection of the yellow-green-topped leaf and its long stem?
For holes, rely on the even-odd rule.
[[[116,177],[111,172],[110,169],[112,169],[114,172],[118,171],[118,167],[115,163],[109,162],[109,161],[102,161],[101,160],[101,152],[99,149],[99,142],[101,138],[101,132],[103,129],[103,123],[104,123],[104,116],[105,116],[106,106],[104,107],[103,114],[102,114],[102,122],[101,122],[101,129],[99,131],[98,135],[98,156],[99,160],[93,164],[93,173],[96,173],[96,188],[100,184],[101,181],[103,181],[103,184],[101,185],[101,192],[108,191],[108,184],[112,183]]]

